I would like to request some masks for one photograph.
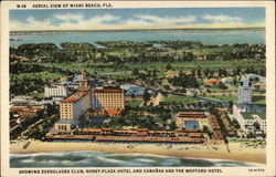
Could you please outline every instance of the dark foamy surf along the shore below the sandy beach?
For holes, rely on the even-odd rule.
[[[11,154],[10,166],[23,167],[246,167],[254,163],[221,159],[180,158],[145,154],[106,154],[99,152],[54,152]]]

